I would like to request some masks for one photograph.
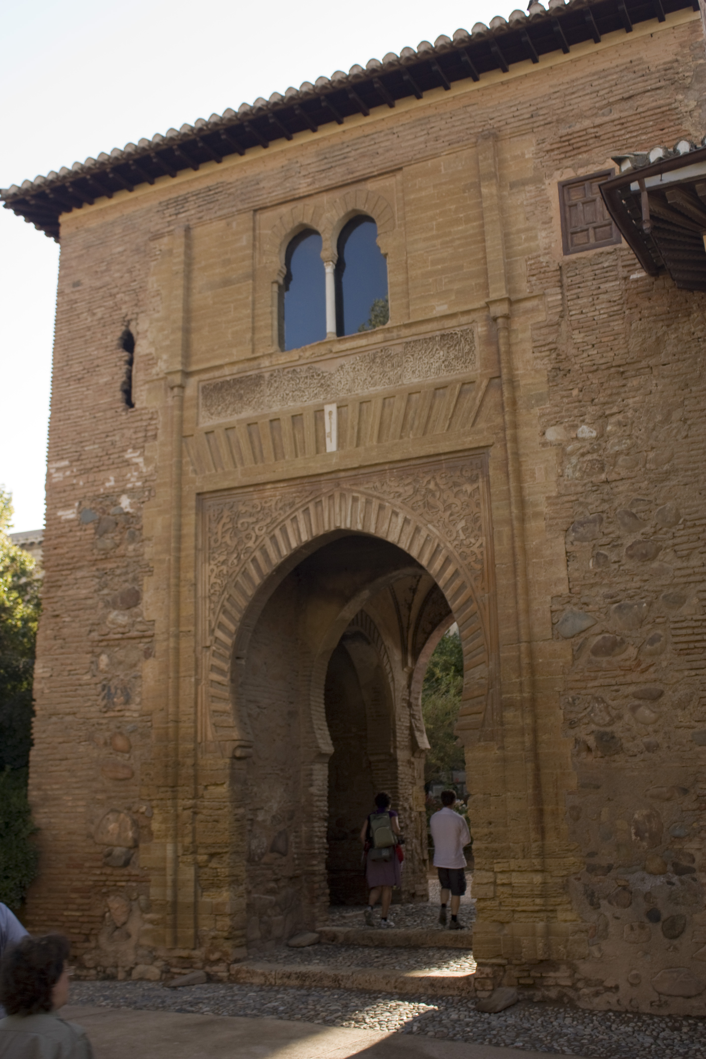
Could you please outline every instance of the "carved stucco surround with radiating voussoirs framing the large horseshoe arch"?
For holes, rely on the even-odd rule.
[[[369,533],[412,555],[434,577],[458,623],[465,658],[461,734],[497,723],[497,631],[485,453],[409,463],[292,486],[233,490],[202,502],[207,659],[200,740],[247,756],[252,736],[232,701],[231,665],[260,587],[296,554],[336,530]],[[310,551],[310,548],[309,548]],[[249,618],[248,621],[252,621]]]

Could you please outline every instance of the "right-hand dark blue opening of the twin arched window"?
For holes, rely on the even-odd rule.
[[[365,216],[349,220],[339,236],[337,335],[354,335],[387,322],[387,263],[377,237],[378,226]]]

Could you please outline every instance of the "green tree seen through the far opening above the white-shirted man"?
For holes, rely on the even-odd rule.
[[[431,749],[427,751],[424,780],[450,783],[451,772],[466,768],[464,748],[454,726],[464,684],[464,653],[457,631],[441,636],[429,660],[421,689],[421,712]]]

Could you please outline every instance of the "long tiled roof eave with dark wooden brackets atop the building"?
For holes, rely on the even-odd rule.
[[[439,37],[434,46],[427,41],[417,52],[403,49],[399,56],[372,59],[365,69],[352,67],[348,74],[320,77],[315,85],[305,83],[298,91],[275,92],[269,101],[258,100],[251,107],[243,104],[238,112],[227,110],[199,119],[194,126],[156,136],[151,141],[128,144],[123,150],[74,163],[71,169],[50,173],[21,187],[0,190],[5,209],[34,223],[58,240],[62,213],[91,205],[97,198],[111,198],[119,191],[131,192],[158,177],[176,177],[187,168],[198,169],[205,162],[220,162],[233,154],[243,155],[254,146],[291,140],[296,132],[312,132],[354,113],[369,114],[374,107],[394,107],[402,98],[421,98],[433,88],[450,89],[455,82],[478,80],[484,74],[507,73],[520,61],[539,61],[541,55],[569,52],[577,43],[599,43],[605,33],[632,32],[634,23],[651,20],[655,11],[668,14],[685,8],[699,10],[698,0],[549,0],[549,11],[535,3],[529,15],[513,12],[510,21],[496,17],[490,26],[478,23],[469,34],[458,30],[453,39]]]

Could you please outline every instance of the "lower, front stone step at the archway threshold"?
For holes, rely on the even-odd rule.
[[[298,989],[361,989],[404,997],[472,997],[473,971],[387,970],[378,967],[251,963],[232,967],[230,981],[249,986],[290,986]]]

